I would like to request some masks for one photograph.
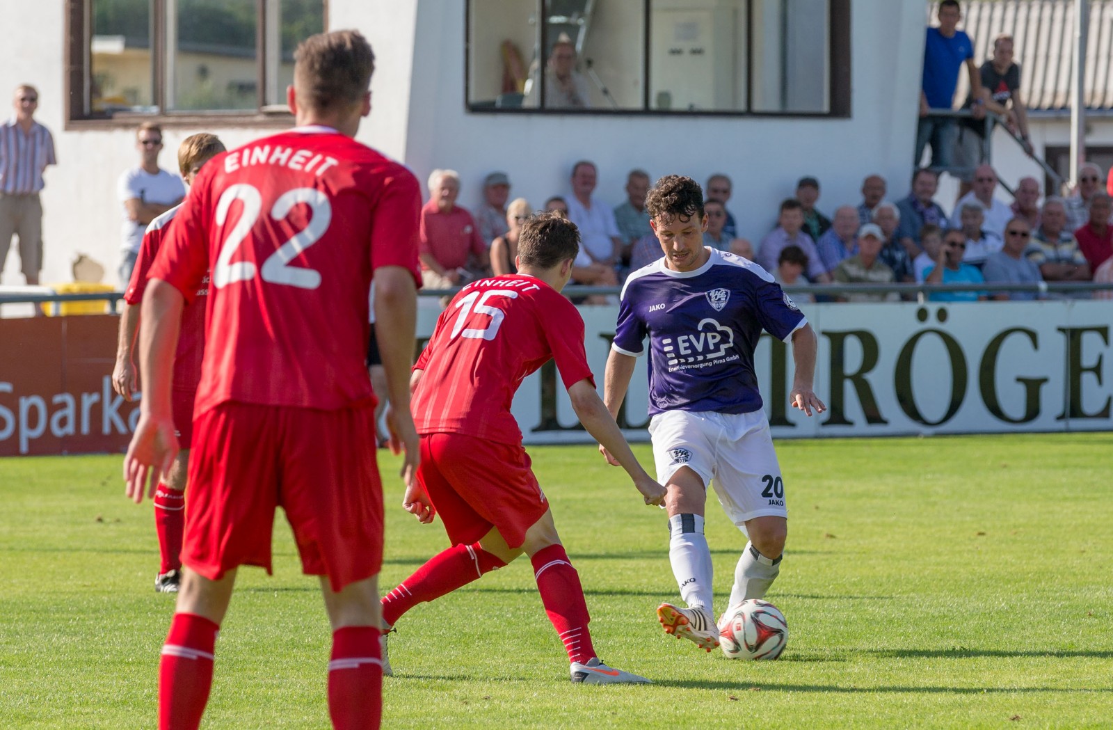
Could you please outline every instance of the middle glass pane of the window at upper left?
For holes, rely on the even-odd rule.
[[[255,0],[167,0],[167,106],[257,109]]]

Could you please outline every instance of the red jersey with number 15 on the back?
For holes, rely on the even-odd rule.
[[[555,289],[522,274],[469,284],[436,320],[414,365],[417,433],[462,433],[521,444],[510,413],[528,375],[556,361],[564,387],[594,379],[583,352],[583,318]]]

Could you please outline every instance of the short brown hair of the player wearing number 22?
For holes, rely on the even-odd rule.
[[[316,111],[359,102],[375,71],[375,53],[358,30],[309,36],[294,51],[297,102]]]

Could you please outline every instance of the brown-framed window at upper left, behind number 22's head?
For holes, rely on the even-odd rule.
[[[288,121],[294,49],[325,0],[69,0],[70,120]]]

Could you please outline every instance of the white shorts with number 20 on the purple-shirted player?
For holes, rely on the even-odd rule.
[[[667,484],[681,466],[715,487],[738,527],[754,517],[787,517],[785,482],[765,411],[692,413],[667,411],[649,422],[657,481]]]

